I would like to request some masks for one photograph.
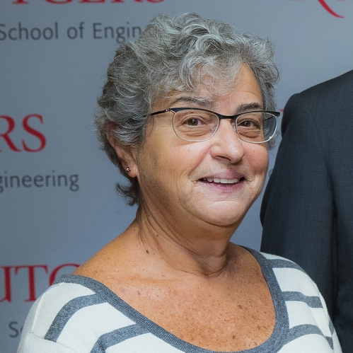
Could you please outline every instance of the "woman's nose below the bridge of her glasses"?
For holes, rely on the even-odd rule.
[[[247,142],[238,136],[233,120],[221,120],[211,141],[214,158],[226,158],[231,163],[236,163],[244,156],[244,144]]]

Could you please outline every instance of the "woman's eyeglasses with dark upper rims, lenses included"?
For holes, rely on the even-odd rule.
[[[231,120],[233,130],[245,142],[261,144],[270,141],[277,129],[279,112],[255,110],[236,115],[221,115],[200,108],[168,108],[150,116],[173,112],[175,134],[185,141],[206,141],[216,134],[221,119]]]

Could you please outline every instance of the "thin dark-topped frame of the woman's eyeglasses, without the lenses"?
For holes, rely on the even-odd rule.
[[[211,112],[212,114],[216,115],[219,120],[218,120],[218,125],[217,125],[216,129],[214,129],[214,133],[210,137],[207,137],[207,139],[202,139],[202,140],[188,140],[188,139],[183,139],[182,137],[180,137],[175,131],[174,115],[175,115],[175,113],[181,112],[183,110],[202,110],[204,112]],[[277,123],[278,123],[277,118],[279,117],[279,115],[281,115],[280,112],[276,112],[274,110],[250,110],[250,111],[247,111],[247,112],[241,112],[241,113],[236,114],[236,115],[221,115],[218,112],[212,112],[212,110],[207,110],[207,109],[202,109],[202,108],[180,107],[180,108],[168,108],[168,109],[164,109],[164,110],[158,110],[158,112],[152,112],[149,116],[151,117],[151,116],[154,116],[154,115],[163,114],[163,112],[173,112],[174,113],[174,115],[173,115],[173,129],[174,129],[175,134],[179,137],[179,139],[182,139],[182,140],[185,140],[185,141],[192,141],[192,142],[202,142],[202,141],[207,141],[208,139],[211,139],[214,136],[214,134],[216,134],[216,132],[217,132],[217,130],[219,128],[219,123],[221,122],[222,119],[231,119],[231,120],[234,120],[236,122],[238,117],[240,117],[241,115],[244,115],[244,114],[248,114],[250,112],[265,112],[265,113],[273,115],[276,118],[276,127],[274,128],[274,132],[272,133],[272,135],[268,139],[266,139],[265,141],[247,141],[247,140],[242,139],[241,134],[238,133],[238,129],[236,128],[236,125],[234,125],[234,127],[236,128],[235,131],[238,134],[238,137],[242,141],[248,142],[249,144],[263,144],[265,142],[270,141],[270,139],[272,139],[272,137],[274,137],[274,134],[276,134]]]

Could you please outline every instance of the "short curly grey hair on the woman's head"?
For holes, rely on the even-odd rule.
[[[128,204],[141,204],[139,183],[125,173],[107,134],[118,144],[141,146],[151,105],[158,99],[172,92],[192,93],[204,77],[231,85],[241,64],[253,71],[264,109],[274,110],[279,71],[273,57],[274,47],[267,38],[195,13],[158,15],[136,40],[117,48],[98,98],[95,123],[102,149],[129,180],[128,186],[117,184]]]

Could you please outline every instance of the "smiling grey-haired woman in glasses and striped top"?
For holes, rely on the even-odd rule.
[[[229,241],[265,183],[272,57],[195,14],[117,50],[96,125],[137,217],[38,299],[19,352],[340,352],[311,279]]]

